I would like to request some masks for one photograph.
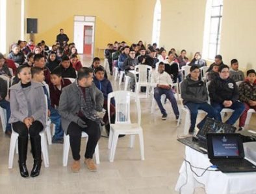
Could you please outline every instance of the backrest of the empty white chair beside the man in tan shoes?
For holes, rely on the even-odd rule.
[[[141,121],[140,99],[134,92],[114,91],[108,95],[108,113],[110,113],[110,100],[114,98],[116,103],[116,120],[115,124],[131,124],[131,101],[136,102],[136,112],[138,115],[138,124]],[[110,114],[109,114],[110,123]]]

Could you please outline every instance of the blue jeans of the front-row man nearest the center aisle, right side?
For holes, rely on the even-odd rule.
[[[190,120],[191,120],[191,125],[190,125],[190,131],[194,131],[195,125],[196,125],[196,118],[198,116],[198,109],[203,110],[207,113],[207,116],[199,122],[198,129],[201,129],[203,125],[205,124],[206,118],[216,118],[216,115],[218,112],[216,109],[214,109],[209,103],[204,102],[204,103],[194,103],[194,102],[188,102],[185,104],[186,107],[188,107],[190,111]]]

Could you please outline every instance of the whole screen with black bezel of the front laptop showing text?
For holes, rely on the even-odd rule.
[[[244,158],[241,135],[238,133],[208,133],[208,156],[217,158]]]

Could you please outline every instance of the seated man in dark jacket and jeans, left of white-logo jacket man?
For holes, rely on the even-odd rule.
[[[207,117],[216,118],[217,114],[217,111],[211,105],[209,105],[209,103],[207,103],[207,88],[205,83],[199,80],[199,76],[199,67],[192,65],[190,67],[190,74],[188,74],[186,79],[181,83],[181,98],[183,98],[183,104],[188,107],[190,111],[190,134],[194,133],[198,109],[201,109],[207,113],[207,116],[205,116],[205,118],[203,118],[203,120],[197,125],[198,129],[203,127]]]

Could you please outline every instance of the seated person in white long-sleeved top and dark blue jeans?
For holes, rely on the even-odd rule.
[[[176,120],[179,118],[179,109],[177,101],[172,92],[172,78],[170,75],[164,71],[164,63],[159,63],[159,68],[152,75],[151,82],[154,83],[154,98],[159,106],[159,109],[162,113],[162,120],[166,120],[167,113],[164,107],[162,106],[161,96],[162,94],[166,95],[166,98],[170,100],[172,104],[172,109],[175,114]]]

